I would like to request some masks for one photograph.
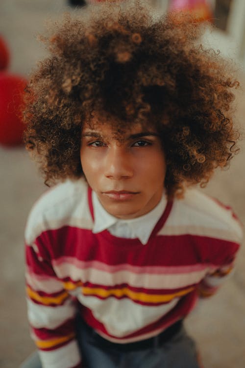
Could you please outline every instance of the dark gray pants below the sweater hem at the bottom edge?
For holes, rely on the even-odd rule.
[[[195,343],[183,326],[167,342],[155,337],[153,346],[135,351],[122,351],[113,343],[101,346],[97,333],[86,325],[79,328],[77,340],[86,368],[200,368]],[[42,368],[38,353],[20,368]]]

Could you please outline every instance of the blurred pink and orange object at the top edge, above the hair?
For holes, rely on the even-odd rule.
[[[171,0],[169,10],[189,11],[199,22],[213,19],[212,7],[208,0]]]

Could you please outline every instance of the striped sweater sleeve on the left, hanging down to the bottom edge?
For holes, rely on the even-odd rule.
[[[42,237],[26,243],[26,294],[31,336],[43,368],[81,368],[75,300],[46,258]]]

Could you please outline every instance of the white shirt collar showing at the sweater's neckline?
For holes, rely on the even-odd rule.
[[[166,194],[163,191],[160,202],[153,210],[143,216],[124,220],[108,213],[99,202],[94,191],[92,192],[92,201],[95,216],[93,233],[108,230],[116,237],[139,238],[142,244],[147,244],[152,230],[163,214],[167,204]]]

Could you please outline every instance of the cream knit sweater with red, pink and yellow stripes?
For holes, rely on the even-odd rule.
[[[78,312],[102,337],[155,336],[213,294],[242,238],[233,212],[196,189],[169,202],[146,245],[93,234],[91,189],[67,181],[45,193],[26,231],[28,319],[43,367],[82,367]]]

